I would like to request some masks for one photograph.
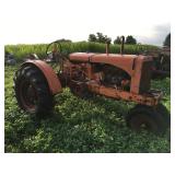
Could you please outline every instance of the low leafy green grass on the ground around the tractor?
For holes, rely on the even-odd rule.
[[[136,133],[125,124],[132,103],[96,96],[84,101],[69,89],[56,96],[54,114],[36,118],[21,110],[14,97],[13,73],[16,67],[5,67],[4,133],[5,152],[171,152],[170,129],[158,137]],[[153,81],[162,90],[171,110],[171,79]]]

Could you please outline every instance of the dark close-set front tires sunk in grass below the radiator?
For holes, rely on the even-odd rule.
[[[145,124],[149,127],[144,129],[153,133],[164,133],[168,126],[163,113],[158,110],[158,106],[151,107],[140,104],[128,113],[126,122],[129,128],[136,131],[140,131],[141,125]]]

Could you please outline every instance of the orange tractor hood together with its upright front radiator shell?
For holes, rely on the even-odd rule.
[[[84,62],[86,65],[100,63],[114,66],[130,75],[131,93],[140,94],[150,90],[152,59],[149,56],[74,52],[70,55],[70,60],[77,65]],[[93,78],[94,72],[92,71],[92,75],[91,73],[89,74],[89,78]],[[116,73],[116,77],[118,73]]]

